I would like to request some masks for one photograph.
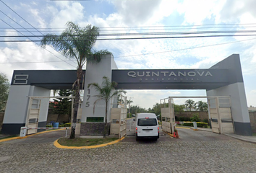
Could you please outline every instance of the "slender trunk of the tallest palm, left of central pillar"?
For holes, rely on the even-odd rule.
[[[77,123],[77,112],[80,100],[80,81],[82,78],[82,66],[78,66],[77,69],[77,81],[75,83],[75,97],[74,97],[74,114],[72,120],[72,128],[69,138],[75,138],[75,128]]]

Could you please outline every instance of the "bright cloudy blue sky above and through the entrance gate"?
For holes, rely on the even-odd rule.
[[[0,35],[60,34],[68,21],[81,27],[95,25],[101,33],[256,31],[255,6],[255,0],[0,0]],[[19,29],[32,26],[37,30]],[[40,40],[40,37],[0,37],[0,40],[19,39]],[[113,53],[120,69],[210,68],[239,53],[247,105],[256,107],[255,36],[98,40],[95,49]],[[0,72],[7,74],[9,80],[14,70],[75,68],[76,63],[51,48],[43,49],[33,42],[0,42]],[[146,109],[169,96],[205,95],[205,90],[127,91],[128,98],[133,98],[132,105]],[[174,103],[184,104],[185,100],[174,99]]]

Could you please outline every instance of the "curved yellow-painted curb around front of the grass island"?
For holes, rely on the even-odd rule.
[[[54,141],[54,146],[56,146],[56,148],[62,148],[62,149],[90,149],[90,148],[100,148],[103,146],[109,146],[112,145],[114,143],[118,143],[119,141],[122,141],[125,137],[122,137],[120,139],[117,139],[116,141],[112,141],[110,143],[103,143],[101,145],[97,145],[97,146],[61,146],[61,144],[59,144],[57,139],[56,141]]]

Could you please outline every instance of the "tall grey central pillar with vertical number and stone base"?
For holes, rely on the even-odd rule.
[[[108,120],[105,120],[106,102],[103,100],[97,102],[95,105],[95,112],[93,112],[93,105],[98,97],[98,92],[93,87],[88,89],[88,84],[97,83],[101,86],[103,76],[112,79],[112,68],[117,68],[112,55],[105,55],[101,57],[100,63],[87,63],[85,73],[85,97],[82,103],[82,118],[80,135],[103,135],[102,128],[104,123],[87,122],[87,117],[104,117],[104,122],[110,122],[110,107],[111,102],[108,102]],[[108,133],[107,133],[108,134]]]

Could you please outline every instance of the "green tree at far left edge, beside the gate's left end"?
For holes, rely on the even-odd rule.
[[[9,94],[9,80],[5,74],[0,74],[0,111],[7,103]]]

